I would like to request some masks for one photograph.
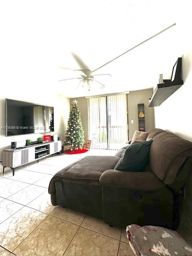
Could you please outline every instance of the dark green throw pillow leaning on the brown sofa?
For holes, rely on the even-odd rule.
[[[116,170],[144,172],[149,163],[149,150],[152,140],[130,145],[114,167]]]

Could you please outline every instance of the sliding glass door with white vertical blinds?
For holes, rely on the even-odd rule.
[[[94,149],[117,150],[128,141],[126,94],[89,98],[89,135]]]

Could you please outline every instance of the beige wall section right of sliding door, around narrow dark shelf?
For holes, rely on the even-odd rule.
[[[151,98],[153,89],[145,89],[138,91],[131,91],[127,94],[128,99],[128,124],[129,124],[129,140],[135,130],[138,130],[138,104],[144,103],[145,108],[145,130],[148,131],[155,127],[154,124],[154,108],[149,108],[149,98]],[[131,123],[133,120],[133,124]]]

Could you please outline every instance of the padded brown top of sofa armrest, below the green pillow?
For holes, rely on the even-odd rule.
[[[99,181],[103,185],[129,188],[159,189],[166,186],[153,172],[106,170]]]

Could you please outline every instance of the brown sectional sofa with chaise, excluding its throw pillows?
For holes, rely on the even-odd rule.
[[[111,226],[157,225],[176,229],[179,191],[192,170],[192,142],[161,129],[153,138],[144,172],[114,170],[115,156],[86,156],[56,173],[49,185],[53,205],[102,218]]]

